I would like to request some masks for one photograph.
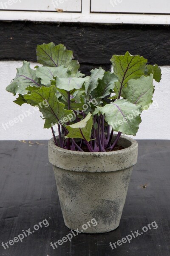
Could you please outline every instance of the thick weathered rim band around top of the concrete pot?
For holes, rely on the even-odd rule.
[[[74,172],[115,172],[134,166],[138,155],[137,141],[122,135],[118,144],[126,148],[109,152],[81,152],[59,148],[52,138],[48,143],[48,158],[53,166]]]

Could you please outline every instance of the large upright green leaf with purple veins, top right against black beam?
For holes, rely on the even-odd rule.
[[[129,52],[126,52],[125,55],[113,55],[111,63],[114,74],[119,78],[114,87],[114,92],[118,98],[119,96],[123,97],[121,89],[127,85],[130,79],[138,79],[144,75],[147,59],[139,55],[132,56]]]

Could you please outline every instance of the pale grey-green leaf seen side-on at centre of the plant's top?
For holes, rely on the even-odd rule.
[[[79,90],[82,88],[82,85],[89,80],[89,77],[78,78],[78,77],[69,77],[69,78],[58,78],[56,79],[56,86],[59,89],[64,89],[66,91],[72,91],[74,89]]]

